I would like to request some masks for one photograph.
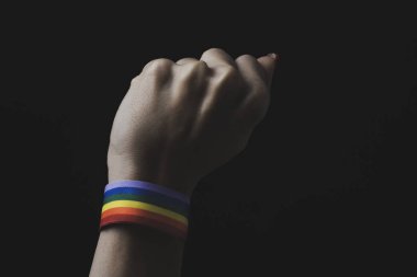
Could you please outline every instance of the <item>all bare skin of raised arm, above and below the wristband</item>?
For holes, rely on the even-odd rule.
[[[191,197],[199,181],[241,152],[270,102],[277,55],[156,59],[133,79],[110,136],[109,183],[142,180]],[[90,277],[177,277],[183,241],[113,224],[100,232]]]

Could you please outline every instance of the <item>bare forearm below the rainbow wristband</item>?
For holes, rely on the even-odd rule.
[[[101,231],[90,277],[178,277],[183,241],[142,226]]]

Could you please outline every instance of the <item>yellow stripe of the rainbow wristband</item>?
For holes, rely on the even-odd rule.
[[[171,210],[167,210],[167,209],[160,208],[160,207],[151,205],[151,204],[142,203],[142,201],[132,201],[132,200],[111,201],[111,203],[108,203],[108,204],[103,205],[103,209],[101,210],[101,212],[104,212],[108,209],[112,209],[112,208],[136,208],[136,209],[143,209],[143,210],[153,211],[153,212],[156,212],[156,213],[159,213],[159,215],[172,218],[172,219],[178,220],[178,221],[180,221],[180,222],[182,222],[184,224],[188,224],[188,222],[189,222],[188,219],[184,216],[180,215],[180,213],[177,213],[177,212],[173,212]]]

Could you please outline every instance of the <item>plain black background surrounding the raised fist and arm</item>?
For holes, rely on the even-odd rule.
[[[410,267],[412,9],[22,3],[1,12],[1,240],[11,276],[88,275],[109,134],[129,80],[150,59],[210,47],[281,60],[247,150],[193,195],[184,276],[398,276]]]

